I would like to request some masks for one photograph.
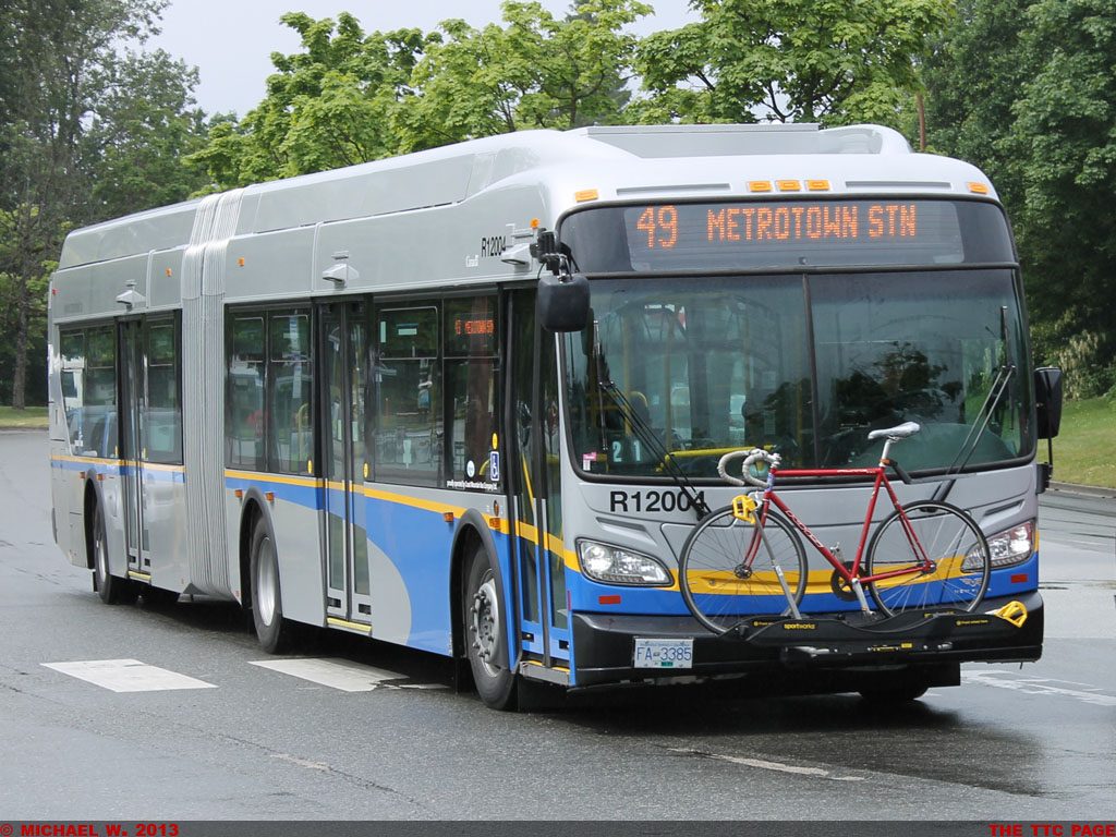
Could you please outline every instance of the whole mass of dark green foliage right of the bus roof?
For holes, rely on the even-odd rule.
[[[1072,397],[1116,383],[1116,0],[959,0],[927,62],[935,148],[995,181],[1036,355]]]

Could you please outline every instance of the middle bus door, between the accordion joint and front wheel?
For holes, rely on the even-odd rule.
[[[368,379],[367,309],[336,302],[319,309],[321,335],[323,477],[327,618],[340,627],[371,628],[368,535],[364,481],[365,392]]]

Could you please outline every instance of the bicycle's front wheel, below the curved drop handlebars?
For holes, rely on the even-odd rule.
[[[686,607],[714,634],[748,616],[790,613],[790,603],[802,599],[806,577],[802,542],[770,510],[760,528],[733,514],[731,506],[718,509],[690,532],[679,560]]]

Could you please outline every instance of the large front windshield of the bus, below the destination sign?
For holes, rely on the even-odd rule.
[[[922,425],[896,451],[907,470],[988,466],[1033,445],[1028,371],[989,397],[1026,357],[1011,268],[633,275],[590,288],[590,326],[565,338],[587,473],[665,477],[648,446],[698,478],[753,446],[785,466],[874,464],[868,432],[905,421]],[[643,423],[661,445],[633,430]]]

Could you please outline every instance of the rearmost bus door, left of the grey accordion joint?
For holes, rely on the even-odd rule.
[[[144,402],[146,369],[142,320],[124,320],[119,324],[119,459],[128,576],[151,580],[150,537],[144,517],[143,415],[146,407]]]

